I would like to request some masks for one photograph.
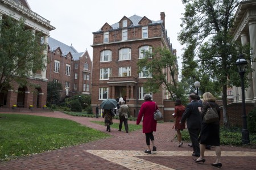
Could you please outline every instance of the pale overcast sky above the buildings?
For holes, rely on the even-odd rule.
[[[181,0],[27,0],[32,11],[51,22],[55,30],[50,32],[53,39],[67,45],[73,45],[78,52],[89,52],[93,57],[92,32],[98,31],[105,23],[119,22],[123,16],[146,16],[151,20],[160,20],[160,12],[166,14],[167,35],[172,47],[181,56],[181,45],[177,41],[184,12]],[[181,61],[179,59],[179,69]]]

